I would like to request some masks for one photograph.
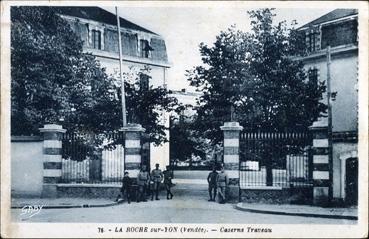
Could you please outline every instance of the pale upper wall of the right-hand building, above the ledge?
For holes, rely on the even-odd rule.
[[[332,101],[333,132],[357,130],[357,51],[332,55],[331,58],[331,88],[337,92]],[[316,67],[319,70],[320,81],[327,80],[327,63],[325,56],[319,59],[305,61],[305,69]],[[324,97],[326,103],[326,93]]]

